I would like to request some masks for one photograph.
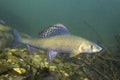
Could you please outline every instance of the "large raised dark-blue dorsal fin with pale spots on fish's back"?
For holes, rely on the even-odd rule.
[[[55,24],[39,32],[39,37],[46,38],[46,37],[69,34],[69,33],[70,33],[69,30],[63,24]]]

